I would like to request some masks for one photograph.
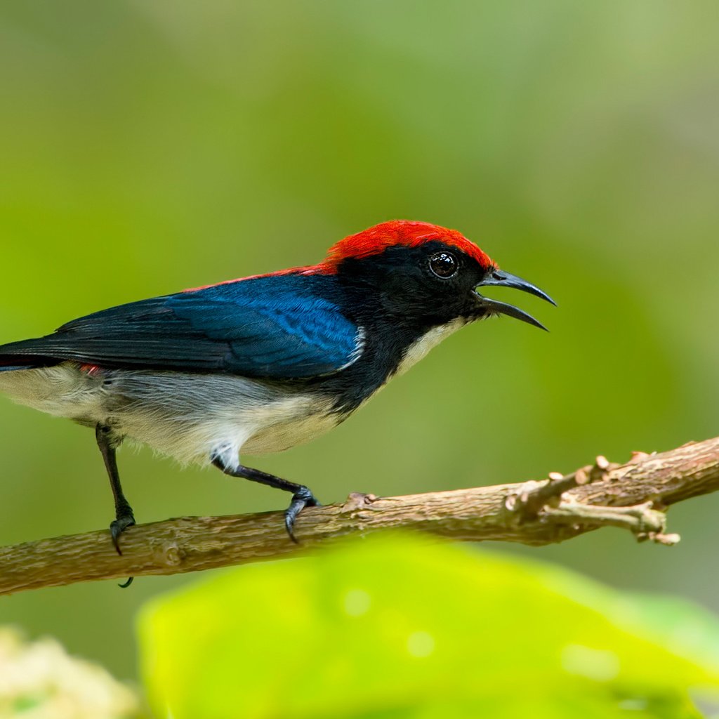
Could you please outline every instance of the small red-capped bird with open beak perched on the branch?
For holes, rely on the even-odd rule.
[[[533,316],[482,295],[554,301],[454,229],[392,220],[293,267],[134,301],[0,346],[0,391],[94,429],[114,497],[111,540],[135,523],[116,450],[145,444],[290,493],[296,541],[311,490],[241,463],[323,434],[462,326]]]

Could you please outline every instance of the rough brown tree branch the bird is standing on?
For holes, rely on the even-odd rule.
[[[635,453],[626,464],[597,457],[571,475],[540,481],[403,497],[352,494],[343,504],[303,510],[299,544],[288,539],[282,513],[270,512],[134,526],[122,535],[122,556],[108,530],[6,546],[0,548],[0,595],[278,559],[387,528],[541,545],[619,526],[640,540],[674,544],[679,536],[665,531],[669,505],[718,489],[719,437],[662,454]]]

